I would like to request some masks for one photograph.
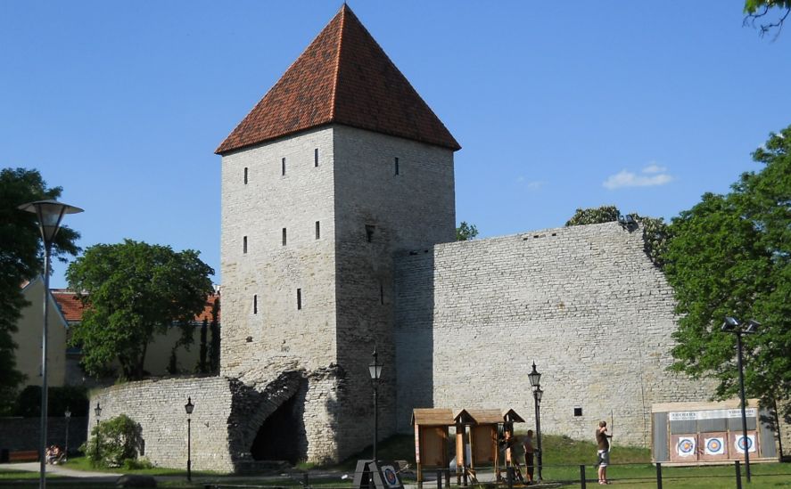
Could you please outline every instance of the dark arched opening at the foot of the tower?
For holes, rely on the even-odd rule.
[[[305,436],[305,428],[298,397],[292,395],[261,425],[250,447],[253,460],[286,460],[295,465],[304,457],[300,440]]]

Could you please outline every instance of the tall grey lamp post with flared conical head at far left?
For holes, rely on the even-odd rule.
[[[61,229],[63,216],[82,212],[82,209],[63,204],[57,200],[37,200],[22,204],[19,209],[36,214],[38,217],[38,231],[41,232],[41,240],[44,241],[44,327],[42,328],[41,339],[41,440],[39,444],[41,452],[38,457],[40,460],[38,487],[44,489],[46,487],[46,318],[49,313],[49,300],[47,300],[49,298],[49,262],[53,241],[58,234],[58,230]]]

